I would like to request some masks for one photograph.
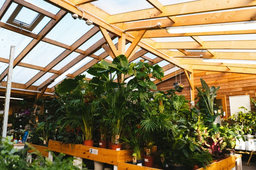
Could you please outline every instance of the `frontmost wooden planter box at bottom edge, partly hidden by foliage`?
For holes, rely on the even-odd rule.
[[[229,158],[226,158],[219,162],[214,162],[211,166],[207,166],[207,170],[230,170],[235,167],[235,156],[232,155]],[[138,166],[129,163],[118,163],[118,170],[159,170],[155,168],[149,168],[145,166]],[[199,168],[197,170],[205,170],[204,168]]]

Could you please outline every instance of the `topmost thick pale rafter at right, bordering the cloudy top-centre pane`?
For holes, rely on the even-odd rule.
[[[243,1],[201,0],[201,1],[193,1],[193,2],[164,6],[163,12],[160,12],[157,9],[151,8],[151,9],[144,9],[139,11],[111,15],[109,18],[109,23],[138,21],[138,20],[145,20],[150,18],[178,16],[178,15],[186,15],[186,14],[193,14],[193,13],[200,13],[200,12],[210,12],[210,11],[217,11],[217,10],[253,7],[253,6],[256,6],[256,2],[252,0],[243,0]]]

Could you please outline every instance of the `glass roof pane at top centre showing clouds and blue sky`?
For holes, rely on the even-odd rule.
[[[98,0],[91,3],[109,15],[153,8],[145,0]]]

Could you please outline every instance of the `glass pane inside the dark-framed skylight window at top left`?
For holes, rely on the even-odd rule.
[[[16,16],[15,20],[18,20],[18,21],[21,21],[21,22],[24,22],[24,23],[30,25],[30,23],[35,20],[35,18],[38,14],[39,13],[32,11],[31,9],[22,7],[21,11]]]

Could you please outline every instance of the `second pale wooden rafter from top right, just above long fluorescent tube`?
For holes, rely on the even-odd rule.
[[[197,8],[195,8],[197,9]],[[255,11],[254,9],[242,9],[236,11],[226,11],[226,12],[215,12],[208,14],[191,15],[191,16],[179,16],[176,17],[175,23],[170,21],[170,19],[157,19],[157,20],[147,20],[147,21],[137,21],[123,23],[123,29],[131,29],[141,26],[153,26],[157,22],[160,22],[161,28],[166,27],[176,27],[176,26],[189,26],[189,25],[203,25],[203,24],[214,24],[214,23],[226,23],[226,22],[241,22],[241,21],[255,21]],[[153,29],[153,28],[152,28]],[[132,31],[132,30],[130,30]],[[146,33],[147,35],[147,33]]]

